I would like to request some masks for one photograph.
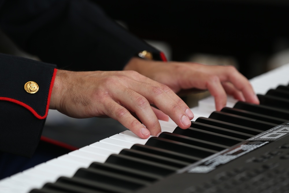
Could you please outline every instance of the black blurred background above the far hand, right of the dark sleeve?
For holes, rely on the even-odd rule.
[[[140,38],[168,43],[172,60],[187,61],[192,53],[230,56],[247,78],[266,71],[268,59],[289,47],[289,1],[94,2]]]

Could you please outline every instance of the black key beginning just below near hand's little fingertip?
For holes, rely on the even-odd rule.
[[[201,157],[201,158],[208,157],[218,152],[215,150],[210,150],[207,148],[193,146],[193,145],[189,145],[189,144],[185,144],[185,143],[181,143],[181,142],[177,142],[177,141],[173,141],[169,139],[163,139],[159,137],[149,138],[146,145],[163,148],[167,150],[172,150],[172,151],[176,151],[176,152],[180,152],[183,154],[192,155],[196,157]]]

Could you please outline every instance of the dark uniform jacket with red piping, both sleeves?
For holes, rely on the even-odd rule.
[[[42,60],[0,54],[0,152],[33,154],[48,113],[56,67],[122,70],[143,50],[164,59],[86,0],[0,0],[0,28]],[[28,81],[39,85],[37,93],[25,91]]]

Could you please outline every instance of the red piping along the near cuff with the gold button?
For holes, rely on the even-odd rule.
[[[10,101],[10,102],[14,102],[16,104],[19,104],[19,105],[25,107],[26,109],[28,109],[38,119],[45,119],[47,117],[47,114],[48,114],[50,97],[51,97],[51,92],[52,92],[52,88],[53,88],[56,72],[57,72],[57,69],[55,68],[54,71],[53,71],[53,76],[51,78],[51,82],[50,82],[48,98],[47,98],[47,105],[46,105],[46,110],[45,110],[45,115],[44,116],[40,116],[38,113],[36,113],[36,111],[34,109],[32,109],[32,107],[30,107],[29,105],[25,104],[24,102],[18,101],[16,99],[7,98],[7,97],[0,97],[0,100],[6,100],[6,101]]]

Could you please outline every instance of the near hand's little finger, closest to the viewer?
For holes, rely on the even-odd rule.
[[[125,107],[110,100],[104,104],[104,114],[117,120],[123,126],[131,130],[134,134],[142,139],[147,139],[150,132],[134,116],[132,116]]]

